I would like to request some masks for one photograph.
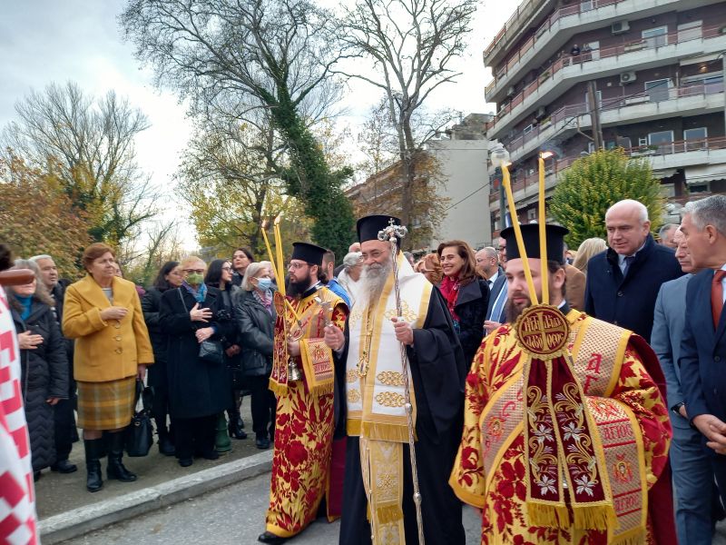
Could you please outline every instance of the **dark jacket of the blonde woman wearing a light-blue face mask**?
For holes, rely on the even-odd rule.
[[[272,339],[275,334],[275,306],[272,313],[250,292],[240,298],[235,312],[242,346],[245,376],[260,377],[272,372]]]

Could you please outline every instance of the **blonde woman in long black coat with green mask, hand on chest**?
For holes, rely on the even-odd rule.
[[[169,335],[166,353],[169,409],[179,465],[195,454],[216,460],[217,416],[230,406],[230,374],[223,362],[200,357],[201,342],[221,341],[234,329],[221,292],[204,284],[206,264],[192,256],[182,261],[182,286],[162,295],[160,321]]]

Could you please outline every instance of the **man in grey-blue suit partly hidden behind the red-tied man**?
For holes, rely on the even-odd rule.
[[[693,274],[691,255],[683,233],[672,236],[675,256],[685,276],[665,282],[658,293],[653,317],[651,346],[661,362],[671,409],[673,440],[670,459],[676,496],[678,541],[711,543],[715,521],[722,517],[718,490],[713,481],[711,459],[703,450],[701,432],[692,428],[686,417],[682,392],[682,374],[678,366],[686,319],[686,287]],[[705,493],[712,489],[711,495]]]

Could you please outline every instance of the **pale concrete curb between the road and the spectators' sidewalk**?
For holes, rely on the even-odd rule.
[[[189,500],[211,490],[219,490],[270,471],[272,451],[260,452],[240,460],[197,471],[152,486],[136,490],[111,500],[85,505],[41,520],[38,527],[44,545],[60,543],[99,530],[152,510],[158,510],[183,500]]]

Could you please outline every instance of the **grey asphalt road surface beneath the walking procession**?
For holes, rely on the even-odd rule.
[[[210,492],[193,500],[154,511],[94,531],[63,545],[245,545],[258,543],[264,531],[265,510],[270,498],[270,473]],[[465,508],[467,545],[479,543],[478,515]],[[333,545],[338,543],[339,522],[319,519],[290,545]]]

